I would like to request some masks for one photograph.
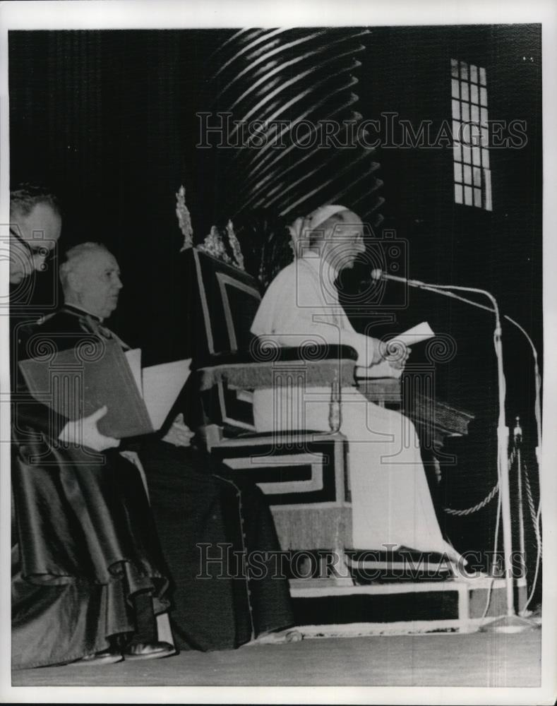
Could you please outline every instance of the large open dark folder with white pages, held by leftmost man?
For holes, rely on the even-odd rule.
[[[107,405],[97,422],[115,438],[158,431],[190,373],[191,359],[141,368],[141,351],[124,353],[107,340],[97,352],[69,348],[48,359],[19,364],[28,390],[38,402],[67,419],[88,417]]]

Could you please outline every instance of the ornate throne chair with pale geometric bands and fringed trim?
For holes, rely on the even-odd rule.
[[[342,554],[352,529],[338,395],[343,383],[354,380],[356,352],[349,347],[259,346],[249,332],[260,302],[256,280],[200,249],[189,249],[184,257],[196,282],[194,363],[210,453],[236,477],[260,486],[283,550]],[[330,433],[296,426],[282,433],[256,433],[252,390],[311,384],[331,386]]]

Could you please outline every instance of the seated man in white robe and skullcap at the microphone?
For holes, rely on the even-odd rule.
[[[280,346],[348,345],[356,349],[358,365],[385,365],[385,345],[352,328],[334,284],[340,270],[351,268],[365,250],[359,217],[343,206],[327,205],[292,228],[303,232],[308,247],[272,281],[251,332]],[[402,367],[406,357],[391,365]],[[341,400],[352,496],[352,547],[347,549],[405,547],[457,560],[438,525],[412,422],[369,402],[355,386],[343,387]],[[297,393],[256,390],[256,429],[329,431],[329,402],[329,386]]]

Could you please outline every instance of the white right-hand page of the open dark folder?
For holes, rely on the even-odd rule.
[[[188,379],[191,358],[152,365],[143,369],[143,400],[153,429],[157,431]]]

